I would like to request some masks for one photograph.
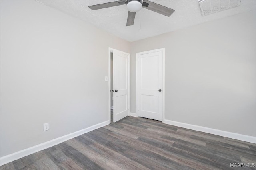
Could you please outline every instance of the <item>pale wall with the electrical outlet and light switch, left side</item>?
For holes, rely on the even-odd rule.
[[[130,53],[36,1],[1,1],[1,157],[108,120],[108,47]]]

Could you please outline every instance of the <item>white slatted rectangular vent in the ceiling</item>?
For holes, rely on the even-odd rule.
[[[202,16],[240,6],[241,0],[199,0]]]

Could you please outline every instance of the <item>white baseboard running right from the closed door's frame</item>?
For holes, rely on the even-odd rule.
[[[212,129],[212,128],[208,128],[208,127],[191,125],[191,124],[187,124],[187,123],[181,123],[181,122],[171,121],[171,120],[166,120],[166,119],[164,120],[164,123],[166,123],[168,125],[184,127],[186,129],[192,129],[192,130],[195,130],[195,131],[211,133],[211,134],[219,135],[219,136],[223,136],[223,137],[229,137],[229,138],[237,139],[237,140],[240,140],[240,141],[256,143],[256,137],[253,137],[253,136],[242,135],[242,134],[227,132],[227,131],[221,131],[221,130],[218,130],[218,129]]]

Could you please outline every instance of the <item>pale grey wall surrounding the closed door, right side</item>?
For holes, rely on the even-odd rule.
[[[136,53],[165,48],[165,119],[256,136],[255,16],[246,12],[133,42],[131,112]]]

